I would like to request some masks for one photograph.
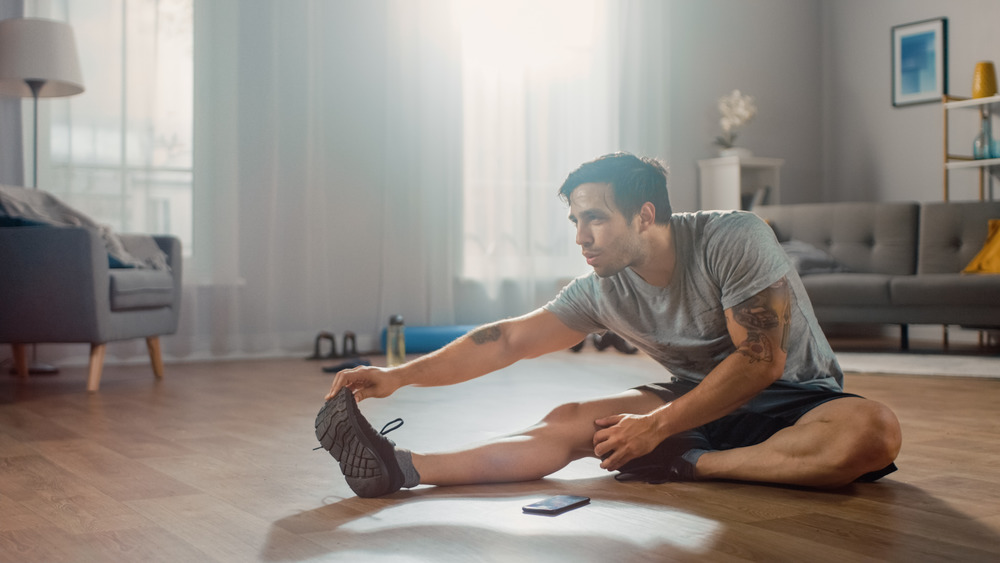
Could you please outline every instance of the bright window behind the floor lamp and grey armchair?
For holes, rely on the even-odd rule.
[[[192,248],[192,2],[25,3],[27,17],[73,27],[86,88],[39,104],[38,186],[118,232],[175,235],[186,253]]]

